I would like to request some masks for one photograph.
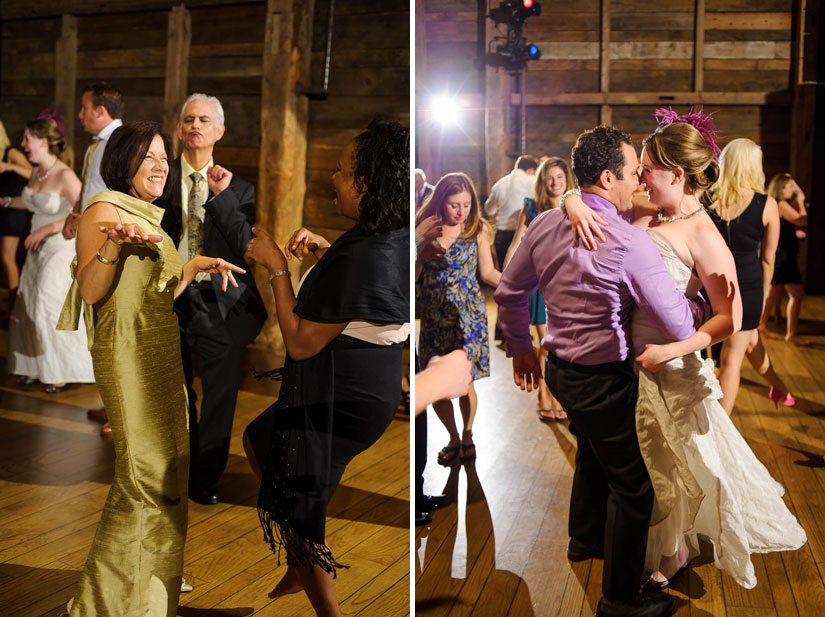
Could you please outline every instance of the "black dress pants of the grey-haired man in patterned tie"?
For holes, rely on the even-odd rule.
[[[195,492],[215,492],[229,459],[246,346],[230,334],[210,282],[190,286],[175,303],[175,310],[180,320],[181,356],[189,393],[189,487]],[[192,388],[196,363],[203,389],[200,420]]]

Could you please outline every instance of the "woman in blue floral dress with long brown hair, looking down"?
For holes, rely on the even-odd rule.
[[[421,319],[418,353],[422,367],[430,358],[464,349],[473,363],[473,380],[490,374],[487,309],[479,278],[498,285],[501,273],[493,265],[491,232],[481,212],[473,183],[463,173],[447,174],[438,181],[430,200],[418,211],[417,220],[438,216],[441,235],[435,241],[443,255],[416,263],[416,313]],[[472,384],[458,399],[463,432],[459,435],[450,400],[433,403],[433,409],[450,434],[450,442],[438,453],[438,462],[449,465],[475,460],[473,420],[478,401]]]

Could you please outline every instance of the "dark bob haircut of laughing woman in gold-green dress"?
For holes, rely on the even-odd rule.
[[[172,140],[161,130],[160,124],[148,120],[127,122],[115,129],[106,142],[103,160],[100,161],[100,176],[109,189],[133,197],[138,196],[133,180],[155,135],[160,135],[163,140],[166,160],[169,161],[169,173],[166,175],[166,185],[163,187],[161,198],[169,197],[175,185],[172,178]]]

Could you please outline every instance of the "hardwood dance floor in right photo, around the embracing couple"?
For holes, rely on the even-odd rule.
[[[495,304],[488,297],[489,322]],[[747,364],[733,420],[787,489],[785,503],[808,535],[800,550],[754,555],[758,578],[739,587],[713,565],[709,545],[671,593],[680,617],[825,615],[825,297],[806,298],[801,331],[815,344],[767,341],[796,407],[774,410]],[[416,615],[588,617],[601,597],[602,561],[567,559],[567,511],[575,441],[566,423],[536,417],[534,394],[512,382],[512,365],[491,341],[492,375],[476,383],[475,464],[440,467],[447,443],[432,409],[425,492],[448,495],[415,533]],[[456,415],[458,416],[457,410]],[[422,570],[423,568],[423,570]]]

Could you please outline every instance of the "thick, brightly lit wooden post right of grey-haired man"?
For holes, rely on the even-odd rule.
[[[310,82],[314,0],[269,0],[261,88],[261,153],[258,172],[257,224],[283,246],[303,220],[306,193],[309,101],[295,93],[298,82]],[[292,260],[297,274],[301,264]],[[267,273],[255,271],[258,287],[266,289]],[[283,350],[275,304],[264,293],[270,318],[258,341]]]

